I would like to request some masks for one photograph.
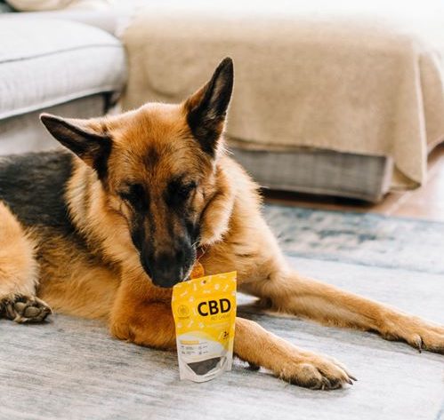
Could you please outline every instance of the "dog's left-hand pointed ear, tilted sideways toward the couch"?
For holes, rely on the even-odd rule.
[[[52,136],[97,171],[106,175],[106,162],[111,151],[111,139],[104,123],[97,120],[62,118],[41,114],[40,121]]]

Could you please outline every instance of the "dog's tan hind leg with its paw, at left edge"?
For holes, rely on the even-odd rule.
[[[44,321],[51,309],[36,297],[34,245],[0,202],[0,316],[16,322]]]

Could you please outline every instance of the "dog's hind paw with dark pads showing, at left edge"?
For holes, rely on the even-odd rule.
[[[0,302],[0,314],[11,321],[41,322],[52,313],[43,300],[34,296],[15,296]]]

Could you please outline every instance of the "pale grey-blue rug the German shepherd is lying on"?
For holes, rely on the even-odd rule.
[[[279,215],[279,226],[290,229],[298,218],[299,226],[308,227],[297,233],[297,241],[287,238],[283,242],[291,253],[295,254],[292,247],[297,246],[300,255],[305,254],[304,258],[289,257],[301,272],[444,323],[444,279],[440,275],[444,263],[437,261],[432,269],[422,268],[427,268],[424,260],[430,258],[435,233],[443,237],[444,225],[432,224],[433,234],[419,238],[424,251],[417,247],[405,263],[397,261],[399,254],[390,252],[386,258],[393,261],[386,264],[380,232],[391,231],[393,223],[401,224],[402,238],[408,236],[408,229],[415,242],[424,225],[376,217],[372,246],[379,257],[370,266],[366,258],[359,259],[359,251],[353,254],[351,250],[347,258],[341,257],[349,246],[345,242],[362,233],[360,224],[367,225],[366,216],[275,207],[266,211],[270,210],[275,218]],[[336,246],[332,234],[324,235],[327,247],[311,245],[313,235],[323,241],[319,224],[312,225],[318,217],[321,226],[336,231]],[[329,225],[328,218],[335,219],[335,224]],[[346,241],[338,233],[344,226]],[[398,247],[403,249],[404,245],[399,243]],[[249,297],[239,300],[244,304],[251,301]],[[239,361],[231,372],[212,382],[181,382],[174,353],[114,340],[99,322],[60,315],[43,325],[22,326],[2,320],[0,419],[444,420],[444,356],[419,354],[408,345],[383,341],[369,333],[257,313],[248,305],[239,312],[296,345],[335,356],[359,382],[333,392],[309,391],[264,370],[249,371]]]

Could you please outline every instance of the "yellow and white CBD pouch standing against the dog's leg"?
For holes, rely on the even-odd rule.
[[[181,379],[205,382],[231,370],[236,272],[176,284],[171,305]]]

